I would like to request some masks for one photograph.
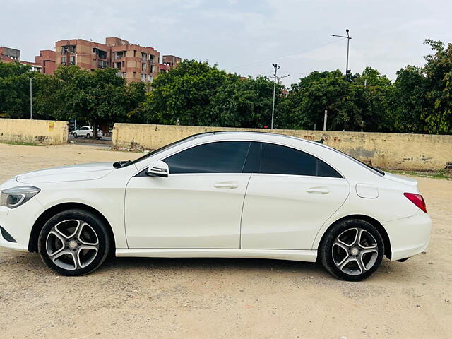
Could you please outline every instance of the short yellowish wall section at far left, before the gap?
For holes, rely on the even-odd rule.
[[[0,119],[0,141],[58,145],[68,133],[68,121]]]

